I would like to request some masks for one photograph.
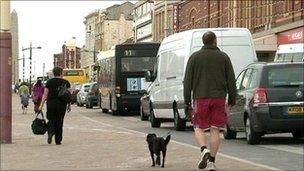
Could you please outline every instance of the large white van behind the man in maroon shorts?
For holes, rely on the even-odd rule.
[[[176,130],[186,127],[183,79],[188,58],[203,46],[202,36],[213,31],[218,47],[231,59],[237,76],[243,68],[256,62],[251,33],[246,28],[194,29],[166,37],[158,51],[157,73],[150,90],[150,122],[160,127],[161,122],[172,121]]]

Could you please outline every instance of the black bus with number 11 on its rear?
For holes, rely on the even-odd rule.
[[[139,111],[140,98],[150,83],[145,73],[154,72],[159,43],[116,45],[98,54],[100,107],[113,115]]]

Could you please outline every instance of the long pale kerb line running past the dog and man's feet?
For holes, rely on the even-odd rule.
[[[99,124],[102,124],[102,125],[106,125],[106,126],[109,126],[109,127],[112,127],[112,128],[117,128],[117,129],[120,129],[120,130],[132,132],[134,134],[140,134],[140,135],[143,135],[144,137],[147,135],[146,133],[135,131],[135,130],[132,130],[132,129],[128,129],[128,128],[124,128],[124,127],[117,127],[117,126],[113,126],[113,125],[110,125],[110,124],[106,124],[106,123],[103,123],[101,121],[98,121],[98,120],[89,118],[87,116],[84,116],[82,114],[78,114],[78,115],[80,115],[83,118],[85,118],[87,120],[90,120],[92,122],[99,123]],[[200,148],[197,147],[197,146],[193,146],[193,145],[190,145],[190,144],[186,144],[186,143],[182,143],[182,142],[178,142],[178,141],[174,141],[174,140],[172,140],[172,142],[174,142],[176,144],[180,144],[180,145],[186,146],[186,147],[190,147],[190,148],[194,148],[194,149],[200,150]],[[267,170],[280,170],[280,169],[275,168],[275,167],[271,167],[271,166],[267,166],[267,165],[264,165],[264,164],[255,163],[255,162],[252,162],[252,161],[249,161],[249,160],[245,160],[245,159],[240,159],[240,158],[233,157],[233,156],[230,156],[230,155],[227,155],[227,154],[223,154],[223,153],[219,153],[219,152],[217,154],[219,156],[226,157],[228,159],[237,160],[239,162],[243,162],[243,163],[251,164],[251,165],[254,165],[254,166],[262,167],[262,168],[265,168]]]

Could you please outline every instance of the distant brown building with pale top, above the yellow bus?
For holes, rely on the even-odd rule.
[[[76,39],[72,38],[62,45],[62,52],[54,54],[54,67],[64,69],[81,68],[80,48],[76,46]]]

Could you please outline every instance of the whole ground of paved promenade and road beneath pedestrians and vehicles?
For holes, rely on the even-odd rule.
[[[13,95],[13,143],[1,144],[3,170],[146,170],[153,169],[145,137],[147,133],[164,136],[169,131],[165,169],[196,170],[199,148],[191,127],[173,130],[173,123],[154,129],[139,116],[112,116],[98,108],[72,107],[64,123],[61,146],[46,143],[46,135],[33,135],[33,105],[21,114],[19,99]],[[303,170],[303,139],[290,134],[263,138],[261,145],[248,145],[244,135],[237,140],[222,138],[217,157],[219,170]],[[160,169],[160,167],[155,167]]]

